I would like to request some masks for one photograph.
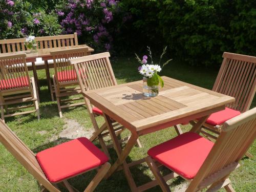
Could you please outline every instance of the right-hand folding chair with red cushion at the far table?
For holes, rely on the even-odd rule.
[[[74,66],[70,65],[69,59],[86,56],[87,53],[88,53],[88,48],[75,48],[75,49],[69,49],[69,50],[50,52],[51,56],[53,57],[54,71],[55,71],[55,74],[53,75],[53,84],[54,84],[53,92],[55,92],[60,118],[62,117],[61,109],[85,104],[83,101],[83,102],[78,102],[73,104],[61,105],[61,102],[70,102],[74,100],[79,100],[79,99],[83,99],[83,97],[66,99],[66,100],[61,100],[61,98],[71,96],[71,95],[79,95],[81,93],[81,89],[79,87]]]

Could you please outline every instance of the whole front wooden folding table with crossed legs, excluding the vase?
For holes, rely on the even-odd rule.
[[[211,113],[224,110],[226,104],[234,102],[233,97],[169,77],[162,78],[164,87],[160,88],[157,97],[152,98],[143,95],[142,80],[84,93],[93,105],[102,110],[118,155],[105,178],[109,178],[116,170],[123,169],[132,191],[142,191],[157,185],[156,181],[152,181],[151,184],[137,187],[129,167],[144,162],[144,159],[129,164],[125,161],[139,136],[200,118],[190,130],[198,133]],[[111,119],[121,123],[132,133],[123,150]]]

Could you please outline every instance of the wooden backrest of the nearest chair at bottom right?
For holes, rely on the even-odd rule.
[[[221,179],[239,166],[240,159],[247,152],[256,137],[256,108],[226,121],[198,174],[187,191],[197,191]]]

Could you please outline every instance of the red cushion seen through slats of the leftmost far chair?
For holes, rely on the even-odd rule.
[[[20,88],[20,87],[27,87],[29,86],[29,80],[27,77],[17,77],[12,79],[1,79],[0,80],[0,89],[13,89],[13,88]]]

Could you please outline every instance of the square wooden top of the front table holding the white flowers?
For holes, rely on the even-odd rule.
[[[234,102],[233,97],[169,77],[162,78],[164,87],[159,89],[157,97],[143,95],[142,80],[86,91],[84,96],[105,114],[137,133],[207,110],[220,111],[225,104]]]

